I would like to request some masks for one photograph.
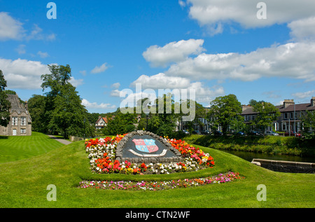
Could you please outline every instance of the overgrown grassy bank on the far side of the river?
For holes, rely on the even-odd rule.
[[[295,137],[237,137],[190,135],[183,140],[210,148],[270,154],[315,156],[315,141]]]

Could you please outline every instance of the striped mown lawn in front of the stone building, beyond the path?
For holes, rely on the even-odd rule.
[[[32,132],[31,136],[0,136],[0,162],[27,159],[61,146],[63,144],[39,132]]]

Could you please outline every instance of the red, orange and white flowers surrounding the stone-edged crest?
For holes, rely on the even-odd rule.
[[[99,174],[121,173],[121,174],[169,174],[172,172],[186,172],[214,167],[215,162],[209,153],[204,153],[182,141],[181,139],[169,139],[167,141],[176,148],[182,155],[182,162],[171,163],[131,163],[127,160],[119,162],[116,160],[116,146],[126,134],[118,134],[116,137],[85,140],[85,151],[90,158],[92,172]]]

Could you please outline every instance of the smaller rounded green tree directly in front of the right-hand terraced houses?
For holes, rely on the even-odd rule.
[[[267,127],[272,127],[272,123],[280,116],[280,112],[269,102],[256,103],[253,111],[257,112],[257,117],[252,120],[252,124],[265,132]]]

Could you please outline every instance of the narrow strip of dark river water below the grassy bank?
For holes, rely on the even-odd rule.
[[[315,158],[312,157],[302,157],[296,155],[272,155],[267,153],[254,153],[247,151],[227,151],[221,150],[226,153],[231,153],[237,155],[239,158],[251,162],[253,159],[266,159],[266,160],[283,160],[283,161],[294,161],[294,162],[315,162]]]

